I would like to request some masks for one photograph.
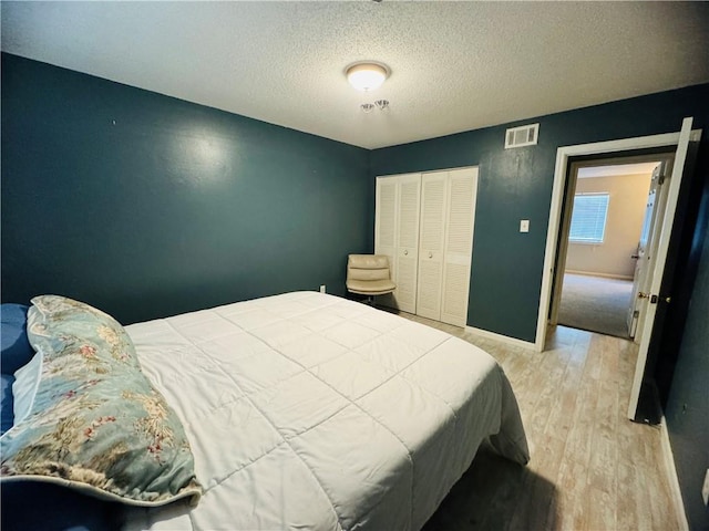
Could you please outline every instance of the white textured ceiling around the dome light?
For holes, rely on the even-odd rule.
[[[709,82],[707,2],[0,9],[3,51],[367,148]],[[391,69],[371,94],[345,79],[367,59]]]

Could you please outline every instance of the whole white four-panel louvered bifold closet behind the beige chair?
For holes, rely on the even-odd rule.
[[[382,302],[465,326],[477,168],[377,177],[374,252],[397,290]]]

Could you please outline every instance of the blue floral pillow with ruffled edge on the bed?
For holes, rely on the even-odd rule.
[[[184,428],[141,371],[125,330],[71,299],[32,303],[40,381],[27,416],[0,438],[0,481],[54,482],[135,506],[186,497],[196,504],[202,487]]]

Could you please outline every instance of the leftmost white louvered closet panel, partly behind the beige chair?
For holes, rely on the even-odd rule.
[[[386,254],[389,258],[392,279],[397,278],[397,188],[395,178],[377,177],[374,254]],[[391,294],[382,295],[380,301],[384,305],[394,306]]]

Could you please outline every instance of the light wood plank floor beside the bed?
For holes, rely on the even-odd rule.
[[[473,343],[504,368],[532,459],[482,448],[425,531],[676,530],[660,430],[626,418],[631,342],[557,326],[545,352],[401,314]]]

